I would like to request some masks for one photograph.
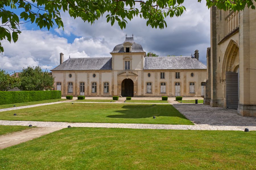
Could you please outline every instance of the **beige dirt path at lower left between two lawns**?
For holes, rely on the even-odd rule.
[[[46,135],[48,133],[52,133],[60,129],[63,129],[63,127],[33,128],[25,131],[2,135],[0,136],[0,149],[17,145],[19,143],[32,140],[34,138]]]

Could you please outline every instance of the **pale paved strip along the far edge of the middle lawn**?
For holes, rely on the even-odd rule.
[[[12,110],[18,110],[18,109],[25,109],[25,108],[30,108],[30,107],[45,106],[45,105],[53,105],[53,104],[58,104],[58,103],[73,103],[73,102],[72,101],[57,101],[57,102],[52,102],[52,103],[42,103],[42,104],[36,104],[36,105],[10,107],[10,108],[5,108],[5,109],[0,109],[0,112],[12,111]],[[85,101],[76,101],[75,103],[111,103],[112,104],[112,103],[115,103],[115,102],[85,102]],[[125,103],[125,104],[170,104],[170,103]]]

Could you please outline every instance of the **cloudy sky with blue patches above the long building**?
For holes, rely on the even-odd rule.
[[[135,18],[121,30],[117,23],[111,26],[102,17],[93,25],[81,19],[62,14],[63,29],[40,30],[34,24],[21,27],[16,43],[1,41],[5,52],[0,54],[0,69],[9,73],[23,67],[39,65],[51,70],[59,65],[59,53],[64,61],[75,57],[110,57],[115,45],[123,43],[125,34],[134,34],[143,50],[159,56],[190,56],[199,50],[199,60],[206,64],[206,50],[210,46],[210,10],[205,2],[187,0],[181,17],[167,18],[167,28],[162,30],[146,26],[146,20]]]

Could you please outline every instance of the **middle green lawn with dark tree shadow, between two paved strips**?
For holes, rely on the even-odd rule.
[[[59,103],[0,112],[0,120],[193,125],[172,105],[125,103]]]

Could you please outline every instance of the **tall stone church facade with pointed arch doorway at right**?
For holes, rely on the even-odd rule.
[[[256,10],[210,9],[204,103],[256,116]]]

